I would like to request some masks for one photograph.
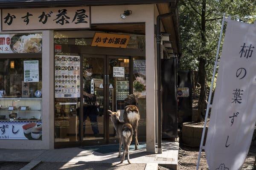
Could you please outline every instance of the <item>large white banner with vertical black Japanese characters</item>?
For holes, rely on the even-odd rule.
[[[205,151],[210,170],[239,170],[256,123],[256,26],[229,20]]]

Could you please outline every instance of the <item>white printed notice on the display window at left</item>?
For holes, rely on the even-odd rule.
[[[24,61],[24,82],[39,82],[38,60]]]

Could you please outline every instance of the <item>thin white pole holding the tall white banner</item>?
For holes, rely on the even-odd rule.
[[[223,28],[224,28],[225,16],[226,16],[226,13],[223,14],[222,23],[221,23],[221,33],[220,33],[220,37],[218,40],[218,48],[217,48],[217,53],[216,53],[216,57],[215,57],[215,65],[214,65],[213,74],[212,74],[212,84],[211,84],[210,93],[209,93],[209,97],[208,97],[207,110],[206,110],[205,119],[204,119],[204,128],[203,128],[203,133],[202,133],[202,138],[201,138],[201,143],[200,143],[200,148],[199,148],[199,153],[198,153],[198,162],[196,165],[196,170],[198,170],[198,168],[199,168],[202,147],[204,144],[205,129],[206,129],[207,118],[209,115],[209,108],[210,108],[210,103],[211,103],[211,98],[212,98],[212,87],[213,87],[213,82],[214,82],[214,78],[215,78],[215,74],[216,74],[216,68],[217,68],[218,56],[219,56],[219,52],[220,52],[221,37],[222,37],[222,33],[223,33]]]

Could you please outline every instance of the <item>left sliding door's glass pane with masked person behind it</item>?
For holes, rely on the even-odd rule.
[[[105,55],[82,58],[83,140],[105,139]]]

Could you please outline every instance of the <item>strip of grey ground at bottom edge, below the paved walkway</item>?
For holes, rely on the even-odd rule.
[[[110,163],[77,163],[42,162],[33,170],[144,170],[146,164],[110,164]]]

